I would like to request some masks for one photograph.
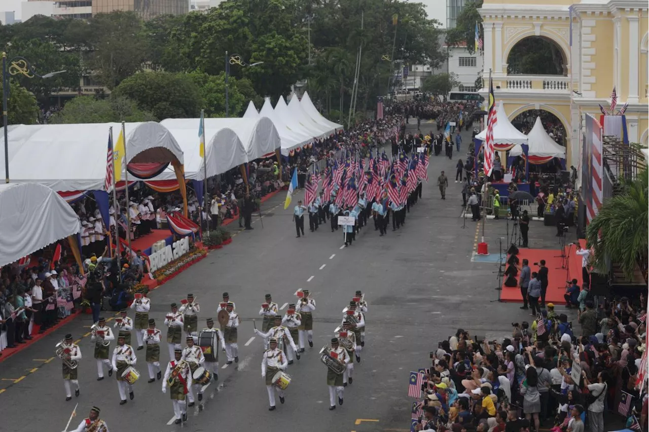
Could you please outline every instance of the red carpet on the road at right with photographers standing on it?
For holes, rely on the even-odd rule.
[[[585,241],[581,240],[582,247]],[[530,261],[530,269],[535,272],[539,267],[534,265],[541,259],[545,259],[545,267],[548,267],[548,291],[545,294],[545,303],[565,304],[563,294],[566,290],[566,282],[572,279],[578,280],[579,285],[582,285],[582,257],[578,256],[575,246],[566,246],[566,254],[568,255],[567,267],[568,269],[561,269],[561,250],[559,249],[528,249],[519,248],[518,257],[520,265],[523,259]],[[509,258],[509,256],[508,256]],[[520,273],[520,272],[519,272]],[[518,279],[518,278],[517,278]],[[503,278],[503,283],[505,282]],[[503,302],[519,302],[522,303],[519,287],[506,287],[502,285],[500,291],[500,300]]]

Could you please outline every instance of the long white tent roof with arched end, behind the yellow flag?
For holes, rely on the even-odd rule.
[[[55,191],[104,190],[110,126],[116,143],[121,123],[8,126],[11,182],[39,183]],[[125,130],[127,162],[169,162],[172,156],[184,162],[177,141],[160,123],[126,123]]]

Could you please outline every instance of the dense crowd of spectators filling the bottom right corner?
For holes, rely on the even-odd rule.
[[[502,340],[459,329],[440,342],[430,368],[420,370],[413,429],[604,432],[606,416],[607,425],[649,430],[649,394],[638,386],[644,307],[626,297],[596,298],[596,307],[592,296],[576,294],[582,297],[579,331],[548,303],[531,324],[512,323],[511,336]],[[638,304],[646,305],[646,297]]]

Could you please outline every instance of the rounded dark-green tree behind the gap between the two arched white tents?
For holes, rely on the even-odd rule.
[[[186,73],[136,73],[123,80],[112,95],[132,99],[141,110],[151,112],[158,120],[193,118],[201,114],[199,89]]]

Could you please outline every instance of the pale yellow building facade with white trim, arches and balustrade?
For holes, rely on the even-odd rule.
[[[567,164],[577,166],[584,115],[609,108],[615,86],[616,111],[628,102],[630,142],[649,147],[649,1],[485,0],[480,15],[484,82],[491,70],[510,121],[528,110],[556,115],[567,132]],[[559,49],[563,74],[508,73],[512,49],[533,36]]]

